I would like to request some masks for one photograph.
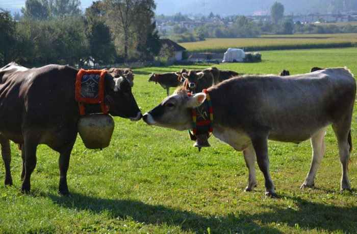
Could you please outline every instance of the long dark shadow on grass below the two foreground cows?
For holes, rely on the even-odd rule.
[[[260,205],[264,211],[258,214],[239,213],[226,217],[214,214],[203,216],[186,210],[180,210],[163,205],[145,204],[137,200],[100,199],[81,194],[71,194],[71,197],[49,196],[62,207],[91,210],[100,214],[108,210],[113,217],[130,216],[137,222],[145,224],[181,226],[185,231],[206,232],[210,227],[213,233],[223,232],[269,232],[283,233],[276,225],[287,225],[296,230],[327,230],[356,232],[357,207],[338,207],[303,200],[298,197],[287,197],[296,201],[298,208],[276,205]],[[275,226],[275,227],[274,227]],[[286,230],[285,230],[286,231]]]

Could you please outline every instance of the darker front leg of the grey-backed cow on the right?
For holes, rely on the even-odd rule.
[[[263,172],[265,179],[265,195],[276,197],[275,186],[269,174],[269,157],[268,157],[268,136],[256,135],[251,138],[254,150],[257,155],[259,169]]]

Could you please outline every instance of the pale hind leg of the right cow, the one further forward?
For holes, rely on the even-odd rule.
[[[311,167],[310,167],[310,171],[309,171],[305,181],[300,186],[300,189],[303,189],[305,187],[308,187],[308,188],[313,187],[315,185],[314,180],[315,180],[317,168],[319,167],[320,162],[321,162],[323,155],[325,154],[325,150],[326,150],[325,141],[324,141],[326,129],[327,129],[327,127],[321,128],[317,133],[315,133],[311,137],[311,147],[313,150]]]

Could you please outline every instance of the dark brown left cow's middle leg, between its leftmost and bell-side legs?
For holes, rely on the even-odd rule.
[[[24,139],[24,144],[22,145],[22,150],[25,151],[25,176],[22,181],[21,185],[21,192],[28,193],[31,189],[30,178],[32,172],[35,170],[36,167],[36,148],[37,143],[29,139],[31,137]]]

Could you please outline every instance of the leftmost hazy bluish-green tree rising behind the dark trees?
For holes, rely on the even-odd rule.
[[[25,8],[21,8],[21,12],[24,18],[48,19],[48,2],[46,0],[27,0],[25,2]]]

